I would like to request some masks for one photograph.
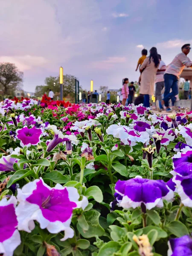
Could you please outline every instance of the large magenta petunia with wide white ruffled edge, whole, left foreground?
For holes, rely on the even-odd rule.
[[[65,231],[62,241],[74,236],[70,228],[73,209],[84,209],[88,204],[86,197],[79,201],[76,188],[61,184],[51,188],[40,179],[27,183],[17,191],[20,202],[16,209],[18,230],[30,233],[35,228],[34,221],[37,221],[41,229],[47,228],[50,233]]]

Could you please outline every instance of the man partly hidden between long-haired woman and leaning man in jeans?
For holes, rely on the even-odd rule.
[[[156,108],[159,112],[162,111],[163,106],[161,105],[161,101],[162,101],[162,90],[164,88],[164,73],[166,71],[166,64],[165,62],[162,61],[161,59],[161,55],[158,54],[158,58],[159,58],[159,67],[157,70],[157,74],[155,77],[155,100],[156,100]]]

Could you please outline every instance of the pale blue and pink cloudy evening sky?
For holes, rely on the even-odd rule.
[[[192,43],[192,0],[0,0],[0,62],[23,71],[23,89],[47,76],[76,76],[89,90],[137,81],[141,50],[169,64]],[[192,52],[189,53],[192,59]]]

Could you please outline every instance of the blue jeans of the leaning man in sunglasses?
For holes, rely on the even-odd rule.
[[[165,83],[165,92],[164,92],[164,99],[165,106],[169,107],[169,100],[172,99],[174,96],[176,96],[178,91],[178,78],[177,76],[174,76],[172,74],[165,74],[164,75],[164,83]],[[172,92],[170,93],[170,90],[172,89]]]

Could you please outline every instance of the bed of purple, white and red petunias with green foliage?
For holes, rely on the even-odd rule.
[[[0,254],[192,255],[191,118],[1,102]]]

